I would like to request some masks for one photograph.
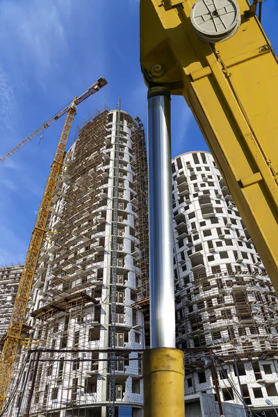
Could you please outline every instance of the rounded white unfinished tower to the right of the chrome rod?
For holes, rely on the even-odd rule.
[[[186,398],[215,392],[211,348],[222,401],[275,416],[265,402],[278,402],[275,290],[213,156],[177,156],[172,175],[177,347],[195,348]]]

